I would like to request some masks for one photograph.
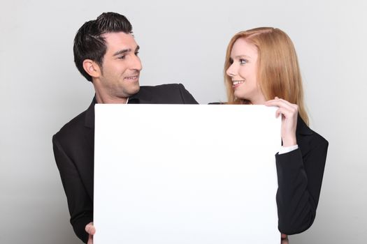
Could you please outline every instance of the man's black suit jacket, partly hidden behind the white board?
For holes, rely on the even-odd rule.
[[[197,104],[182,84],[141,86],[129,103]],[[52,137],[55,160],[68,200],[70,222],[85,243],[85,225],[93,221],[94,98],[85,111]]]

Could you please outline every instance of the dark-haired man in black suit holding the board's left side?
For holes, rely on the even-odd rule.
[[[139,86],[142,69],[139,46],[130,22],[123,15],[103,13],[83,24],[75,36],[73,49],[76,67],[92,82],[96,95],[85,112],[52,137],[52,143],[68,200],[70,222],[82,241],[92,243],[94,105],[197,102],[182,84]]]

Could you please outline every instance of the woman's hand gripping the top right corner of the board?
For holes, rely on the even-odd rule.
[[[296,145],[298,106],[278,97],[275,97],[273,100],[266,101],[264,105],[279,107],[275,116],[278,118],[278,116],[282,114],[283,146]]]

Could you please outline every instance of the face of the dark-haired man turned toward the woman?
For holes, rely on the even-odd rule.
[[[106,33],[103,36],[107,50],[103,56],[101,76],[94,85],[108,100],[129,98],[140,89],[142,66],[137,56],[139,47],[130,33]]]

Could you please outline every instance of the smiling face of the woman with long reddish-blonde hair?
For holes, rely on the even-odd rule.
[[[238,38],[231,50],[232,64],[226,74],[232,79],[234,96],[249,100],[252,104],[263,104],[266,100],[257,82],[257,47]]]

